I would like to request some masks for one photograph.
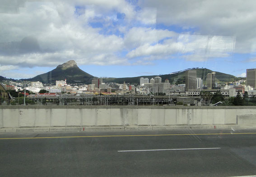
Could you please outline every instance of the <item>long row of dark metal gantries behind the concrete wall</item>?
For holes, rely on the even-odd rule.
[[[177,102],[178,97],[169,96],[147,96],[147,95],[57,95],[57,96],[38,96],[27,97],[36,105],[123,105],[123,106],[142,106],[142,105],[171,105]],[[184,97],[182,98],[184,99]],[[199,97],[188,99],[199,100]]]

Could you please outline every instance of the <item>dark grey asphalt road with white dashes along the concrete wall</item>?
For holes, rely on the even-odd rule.
[[[1,177],[248,175],[256,175],[256,130],[0,134]]]

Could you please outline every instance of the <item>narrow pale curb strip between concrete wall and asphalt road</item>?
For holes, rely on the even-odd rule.
[[[256,125],[173,125],[173,126],[88,126],[88,127],[24,127],[0,128],[0,133],[9,132],[80,132],[80,131],[129,131],[129,130],[174,130],[174,129],[254,129]]]

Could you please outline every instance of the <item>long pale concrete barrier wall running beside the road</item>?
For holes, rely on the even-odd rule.
[[[255,107],[0,107],[0,128],[256,124]]]

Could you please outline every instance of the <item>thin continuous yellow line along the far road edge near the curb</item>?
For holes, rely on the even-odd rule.
[[[154,137],[154,136],[185,136],[185,135],[242,135],[256,133],[194,133],[194,134],[160,134],[160,135],[99,135],[99,136],[74,136],[74,137]],[[71,137],[10,137],[0,138],[0,140],[12,139],[43,139],[43,138],[71,138]]]

